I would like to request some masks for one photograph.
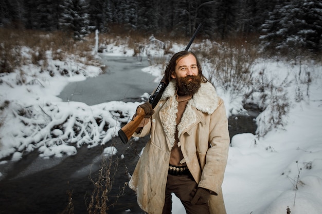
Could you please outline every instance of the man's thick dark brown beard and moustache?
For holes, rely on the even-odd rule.
[[[175,80],[178,88],[178,95],[193,95],[199,90],[201,84],[200,75],[177,77]]]

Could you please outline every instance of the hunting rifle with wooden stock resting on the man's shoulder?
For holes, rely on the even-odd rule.
[[[200,30],[202,24],[199,24],[198,28],[195,30],[194,34],[191,37],[190,42],[188,43],[185,51],[189,50],[195,36],[198,34],[198,31]],[[150,96],[149,103],[152,105],[152,108],[156,106],[156,104],[159,102],[163,91],[168,85],[168,80],[166,76],[163,76],[162,80],[160,81],[158,87],[155,89],[155,92]],[[132,137],[135,130],[140,125],[141,121],[144,119],[145,111],[143,108],[138,107],[136,111],[136,115],[129,123],[127,123],[125,126],[123,126],[118,131],[118,136],[120,137],[121,141],[125,144],[127,143],[130,138]]]

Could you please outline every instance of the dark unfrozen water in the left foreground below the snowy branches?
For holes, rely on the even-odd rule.
[[[118,159],[118,167],[109,193],[110,203],[115,202],[119,189],[129,180],[128,172],[132,173],[138,160],[138,153],[147,139],[129,141],[123,144],[113,139],[108,146],[118,150],[113,160]],[[67,191],[72,192],[74,213],[88,213],[86,204],[94,190],[90,174],[94,181],[98,169],[102,165],[102,147],[91,149],[82,147],[77,155],[43,159],[33,152],[21,161],[15,162],[0,181],[0,213],[61,213],[67,207]],[[121,155],[124,155],[122,159]],[[45,169],[42,169],[42,165]],[[48,168],[47,168],[48,167]],[[87,202],[86,202],[87,199]],[[126,211],[128,210],[128,211]],[[129,211],[131,210],[131,211]],[[136,203],[134,192],[127,186],[126,190],[111,207],[108,213],[144,213]]]

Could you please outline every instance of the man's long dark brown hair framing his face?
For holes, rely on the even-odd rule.
[[[171,74],[172,74],[172,72],[175,71],[176,61],[180,57],[184,57],[184,56],[187,56],[189,54],[191,54],[191,55],[193,55],[195,57],[195,60],[197,62],[197,67],[198,67],[198,74],[200,75],[201,81],[204,82],[204,83],[208,82],[207,78],[202,74],[202,69],[201,69],[200,63],[199,63],[198,58],[196,57],[196,55],[193,52],[190,52],[190,51],[180,51],[180,52],[175,53],[172,56],[171,60],[169,61],[168,65],[166,67],[165,77],[166,77],[166,80],[168,81],[168,83],[171,80],[173,80]]]

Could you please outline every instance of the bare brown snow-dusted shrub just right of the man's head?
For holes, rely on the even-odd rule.
[[[207,75],[210,82],[230,94],[234,100],[253,84],[254,47],[245,44],[213,45],[208,53]]]

